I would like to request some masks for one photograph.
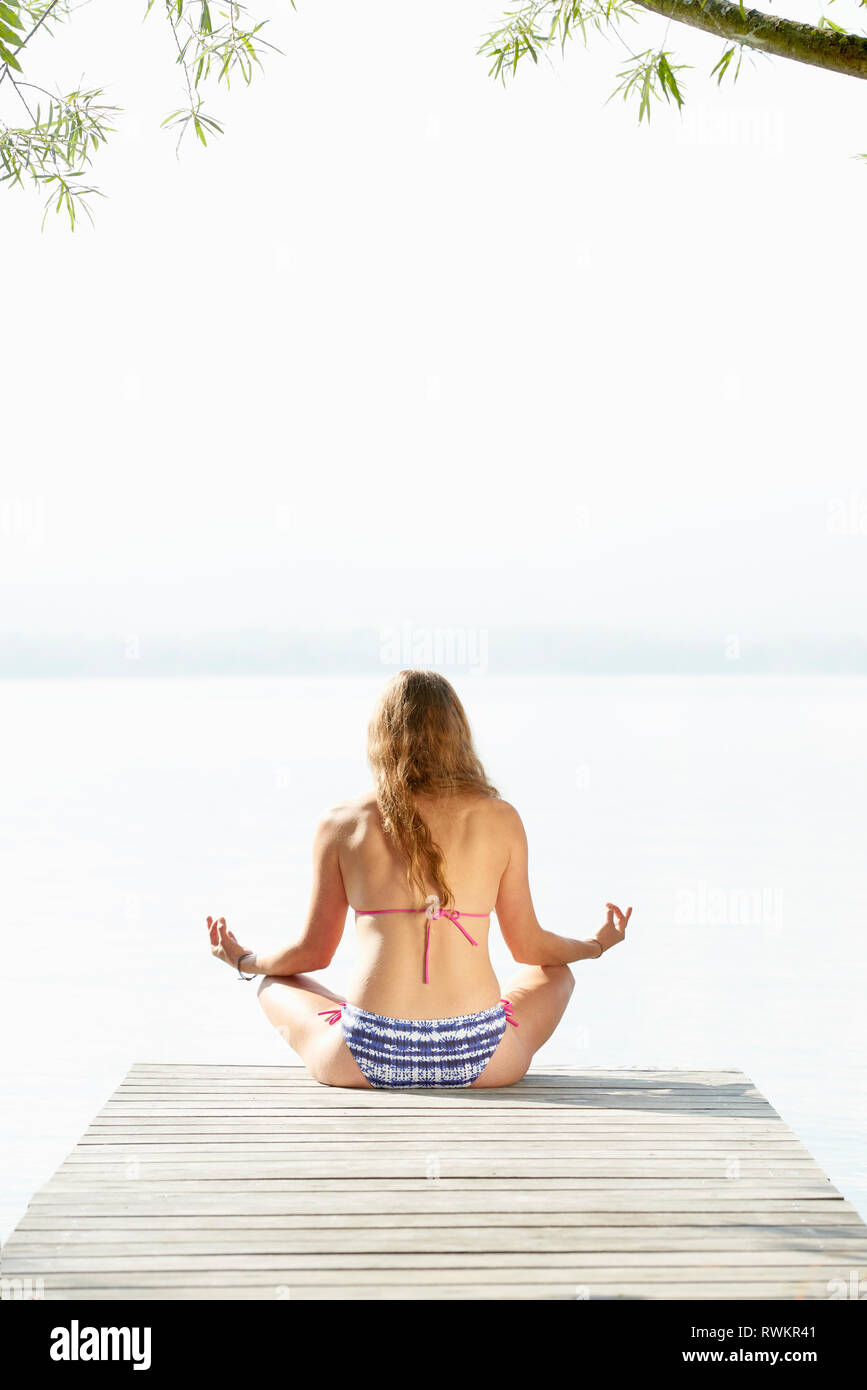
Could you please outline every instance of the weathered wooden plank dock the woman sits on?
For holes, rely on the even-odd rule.
[[[347,1091],[139,1063],[3,1259],[6,1297],[46,1298],[795,1300],[853,1277],[867,1226],[734,1070]]]

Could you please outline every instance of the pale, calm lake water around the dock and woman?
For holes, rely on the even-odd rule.
[[[867,1216],[867,680],[447,674],[542,923],[635,908],[539,1061],[742,1068]],[[0,684],[3,1236],[132,1062],[286,1061],[204,917],[292,938],[381,685]],[[350,923],[338,988],[352,952]]]

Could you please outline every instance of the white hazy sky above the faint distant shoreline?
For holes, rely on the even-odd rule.
[[[639,129],[616,42],[503,90],[496,0],[299,6],[181,161],[143,0],[39,49],[126,115],[94,231],[0,190],[0,628],[864,635],[864,85],[674,25]]]

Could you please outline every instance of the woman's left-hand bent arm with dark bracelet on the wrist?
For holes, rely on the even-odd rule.
[[[307,920],[297,938],[282,951],[250,954],[228,930],[225,917],[208,917],[211,955],[233,969],[242,960],[243,974],[302,974],[324,970],[338,949],[349,902],[340,873],[343,821],[339,810],[329,812],[317,826],[313,842],[313,892]]]

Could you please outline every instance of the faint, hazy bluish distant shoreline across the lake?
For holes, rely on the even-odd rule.
[[[707,639],[563,628],[415,627],[0,637],[0,678],[388,676],[864,676],[867,639]]]

